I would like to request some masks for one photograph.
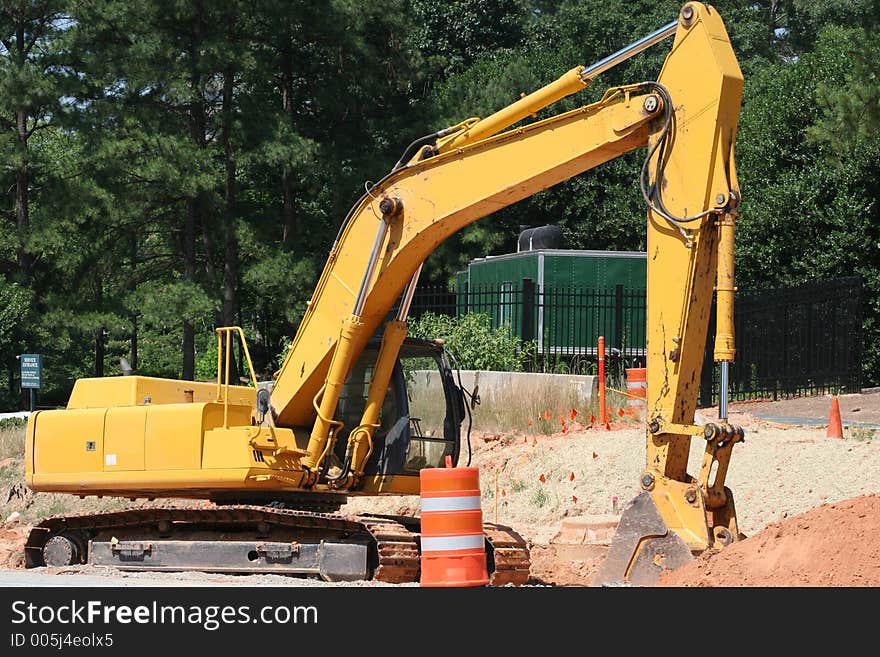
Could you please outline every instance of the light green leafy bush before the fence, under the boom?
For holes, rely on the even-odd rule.
[[[519,339],[509,326],[492,328],[490,317],[484,313],[469,313],[460,317],[436,315],[427,312],[410,324],[410,335],[419,338],[442,338],[459,367],[464,370],[522,370],[524,355]]]

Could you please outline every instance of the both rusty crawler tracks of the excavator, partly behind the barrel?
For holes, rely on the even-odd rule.
[[[485,528],[490,584],[525,584],[526,542],[509,527]],[[33,527],[25,544],[28,568],[79,563],[414,583],[418,518],[224,505],[54,516]]]

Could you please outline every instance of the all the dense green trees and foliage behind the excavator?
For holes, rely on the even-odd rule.
[[[237,324],[260,378],[271,376],[365,181],[416,137],[597,61],[681,4],[4,3],[0,406],[24,403],[14,356],[25,352],[44,355],[41,405],[64,403],[76,378],[94,375],[101,330],[106,375],[125,357],[140,374],[211,378],[213,330]],[[880,383],[877,3],[712,4],[746,76],[738,284],[861,275],[864,383]],[[652,48],[537,118],[656,79],[667,53]],[[423,280],[446,283],[474,257],[515,250],[521,226],[557,223],[568,248],[644,249],[643,155],[461,230]],[[431,321],[425,334],[453,336],[463,366],[517,369],[529,356],[483,320]]]

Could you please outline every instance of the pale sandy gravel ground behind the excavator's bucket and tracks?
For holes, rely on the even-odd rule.
[[[748,416],[731,421],[746,428],[727,476],[746,535],[826,502],[880,492],[880,440],[829,439],[824,428],[781,428]],[[611,513],[614,496],[622,510],[638,492],[645,466],[640,428],[488,438],[475,439],[472,462],[480,468],[483,518],[510,525],[537,544],[548,543],[564,517]],[[694,440],[691,474],[702,454]],[[388,501],[365,498],[345,510],[415,513],[418,504],[418,497],[396,498],[389,509]]]

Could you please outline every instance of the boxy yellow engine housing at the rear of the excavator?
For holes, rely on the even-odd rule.
[[[253,388],[230,386],[228,404],[216,392],[141,376],[81,379],[67,409],[28,418],[28,486],[131,497],[297,488],[305,452],[294,432],[254,426]]]

